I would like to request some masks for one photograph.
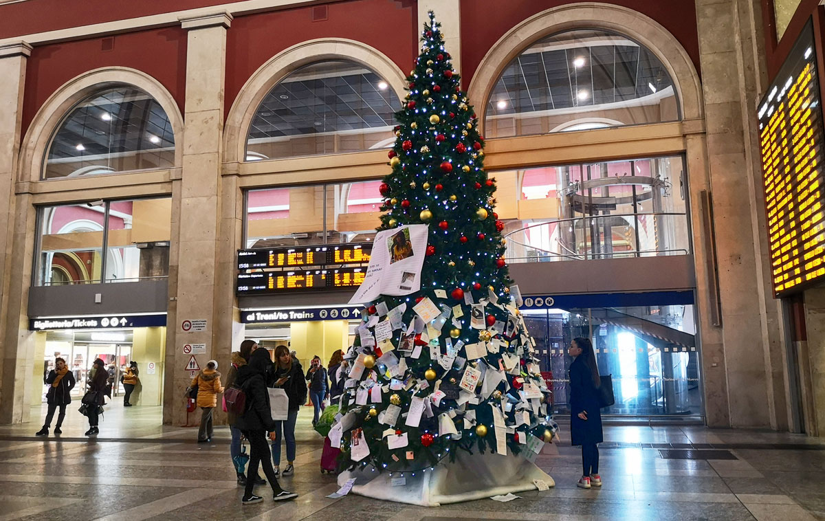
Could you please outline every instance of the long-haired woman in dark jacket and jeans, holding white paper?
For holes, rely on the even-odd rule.
[[[304,383],[304,368],[290,353],[290,348],[279,345],[275,348],[275,370],[268,378],[269,387],[281,387],[289,398],[289,415],[286,420],[275,422],[275,439],[272,441],[272,462],[275,475],[281,474],[281,439],[286,439],[286,467],[284,476],[295,472],[295,421],[298,411],[307,399],[307,386]]]

